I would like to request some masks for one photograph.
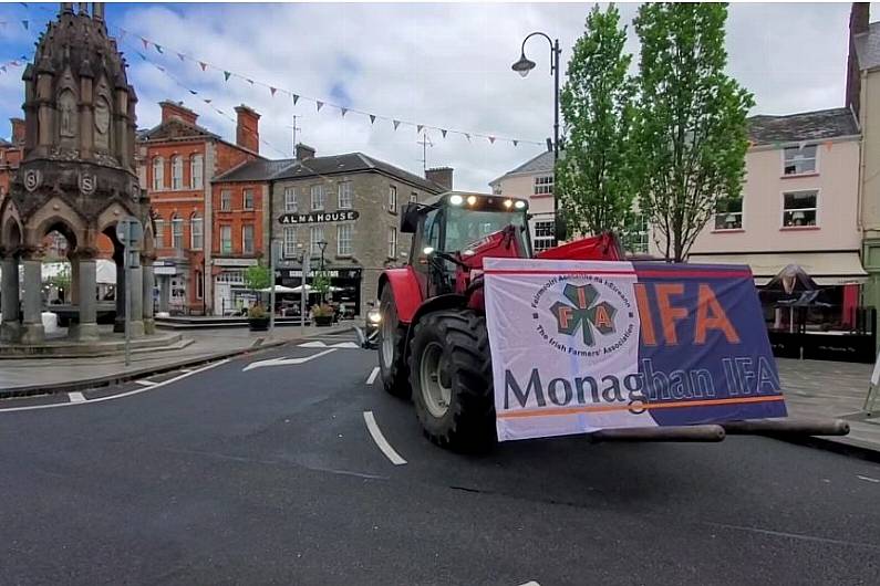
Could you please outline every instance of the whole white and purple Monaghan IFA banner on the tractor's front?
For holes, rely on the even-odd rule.
[[[747,266],[484,268],[501,441],[786,416]]]

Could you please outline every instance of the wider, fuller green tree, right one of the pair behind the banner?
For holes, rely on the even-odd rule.
[[[634,132],[639,207],[666,260],[681,262],[719,201],[739,197],[752,94],[724,73],[727,7],[648,3]]]

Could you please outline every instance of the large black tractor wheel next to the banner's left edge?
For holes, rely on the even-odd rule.
[[[496,442],[491,357],[486,318],[444,311],[416,324],[410,346],[415,412],[434,443],[485,451]]]

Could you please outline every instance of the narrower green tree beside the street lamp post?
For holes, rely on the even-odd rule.
[[[622,231],[632,208],[634,83],[625,42],[614,4],[604,12],[597,4],[568,64],[561,95],[566,151],[555,189],[570,228],[581,233]]]

